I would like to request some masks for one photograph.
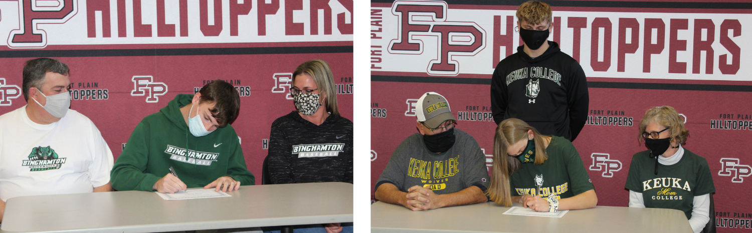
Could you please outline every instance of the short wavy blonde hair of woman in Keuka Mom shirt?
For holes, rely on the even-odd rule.
[[[669,128],[669,132],[671,132],[669,138],[672,140],[676,139],[678,144],[687,144],[687,138],[690,137],[690,131],[684,128],[684,120],[681,120],[679,113],[676,112],[674,107],[651,107],[645,111],[645,115],[642,116],[642,120],[640,120],[640,132],[637,135],[638,143],[644,141],[642,133],[645,132],[645,128],[647,128],[647,125],[650,123],[656,123]]]

